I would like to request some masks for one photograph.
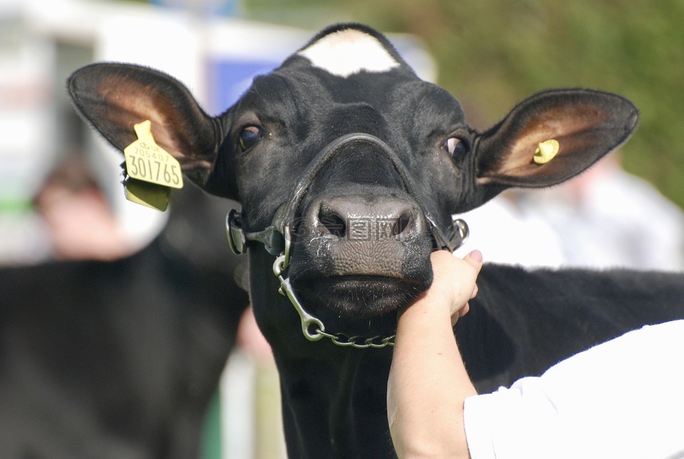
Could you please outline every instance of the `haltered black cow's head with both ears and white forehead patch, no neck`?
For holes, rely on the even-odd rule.
[[[135,140],[133,125],[151,120],[187,177],[242,203],[239,227],[251,239],[284,234],[271,252],[286,247],[304,314],[351,334],[392,332],[382,318],[430,286],[429,255],[450,246],[452,214],[507,187],[573,177],[626,140],[638,118],[619,96],[554,90],[479,132],[455,98],[356,24],[319,33],[217,117],[174,78],[140,66],[81,68],[68,89],[120,150]],[[261,244],[249,247],[259,252],[252,269],[270,270]],[[269,307],[259,298],[257,313]]]

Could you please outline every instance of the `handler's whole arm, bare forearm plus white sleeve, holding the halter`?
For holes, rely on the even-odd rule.
[[[445,319],[445,309],[462,306],[455,317],[467,311],[467,289],[480,263],[475,260],[468,287],[465,262],[433,261],[432,287],[399,316],[388,421],[401,458],[468,458],[469,444],[477,458],[681,455],[682,424],[673,420],[684,411],[683,368],[661,357],[684,349],[684,321],[631,331],[542,376],[475,396]],[[440,272],[465,291],[440,290],[449,285]],[[457,300],[447,300],[450,294]]]

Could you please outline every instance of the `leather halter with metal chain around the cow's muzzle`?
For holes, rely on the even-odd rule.
[[[398,173],[408,194],[414,198],[418,196],[415,193],[416,187],[413,177],[411,177],[406,166],[387,143],[374,135],[351,133],[342,135],[331,143],[328,143],[328,145],[311,160],[311,163],[309,163],[306,169],[299,175],[296,187],[294,188],[294,194],[290,200],[276,210],[271,225],[261,231],[245,232],[244,229],[242,229],[242,215],[237,212],[237,210],[233,209],[228,212],[226,217],[226,231],[228,244],[235,254],[246,252],[247,242],[256,241],[264,244],[266,251],[277,257],[273,264],[273,271],[280,282],[279,293],[289,298],[294,309],[296,309],[299,314],[301,331],[306,339],[309,341],[318,341],[325,336],[326,338],[331,339],[333,344],[338,346],[351,346],[360,349],[368,347],[383,348],[385,346],[394,346],[394,335],[363,338],[361,336],[349,336],[343,333],[330,334],[326,332],[326,327],[323,325],[323,322],[309,314],[309,312],[304,309],[304,306],[301,305],[289,279],[286,277],[286,271],[290,261],[292,225],[294,224],[295,212],[297,207],[299,207],[302,197],[304,197],[304,194],[311,186],[311,183],[314,182],[316,174],[320,172],[334,155],[339,153],[343,147],[361,144],[370,144],[377,147],[378,150],[390,160],[390,163]],[[435,243],[440,249],[447,249],[450,252],[454,252],[467,240],[469,231],[465,221],[460,219],[454,220],[452,222],[452,227],[442,231],[428,212],[423,210],[423,215],[428,225],[430,225],[432,237],[435,239]]]

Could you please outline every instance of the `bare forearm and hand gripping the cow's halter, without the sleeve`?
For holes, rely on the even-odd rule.
[[[476,395],[452,324],[477,293],[482,254],[430,257],[434,280],[418,301],[399,312],[388,381],[388,421],[402,458],[470,458],[463,401]]]

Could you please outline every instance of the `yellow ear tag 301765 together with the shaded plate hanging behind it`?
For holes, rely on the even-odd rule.
[[[171,188],[183,187],[180,163],[157,145],[150,120],[133,126],[138,140],[123,150],[125,197],[131,202],[165,211]]]

